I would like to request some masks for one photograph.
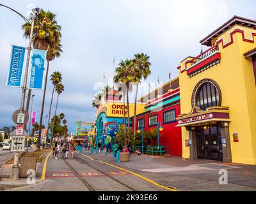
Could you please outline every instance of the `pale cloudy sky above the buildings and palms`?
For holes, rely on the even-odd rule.
[[[234,15],[256,20],[255,0],[0,0],[28,17],[31,8],[39,7],[57,14],[61,25],[63,54],[52,61],[49,75],[60,71],[65,91],[60,95],[57,113],[65,113],[68,132],[74,131],[76,120],[93,122],[93,95],[104,84],[111,85],[113,59],[144,52],[150,56],[152,74],[168,82],[178,77],[177,66],[189,55],[198,55],[199,41]],[[6,87],[11,46],[28,47],[23,37],[22,18],[0,6],[0,128],[12,126],[12,113],[20,108],[21,89]],[[203,47],[204,50],[206,47]],[[105,73],[105,80],[103,78]],[[153,87],[154,88],[154,85]],[[44,120],[49,112],[52,84],[48,83]],[[33,90],[33,111],[39,123],[43,91]],[[147,94],[147,90],[139,95]],[[56,95],[55,95],[56,96]],[[131,99],[133,99],[131,93]],[[54,98],[53,108],[56,105]]]

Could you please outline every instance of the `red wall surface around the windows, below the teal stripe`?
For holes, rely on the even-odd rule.
[[[175,117],[178,117],[180,115],[180,104],[169,107],[169,108],[165,108],[160,112],[152,112],[141,117],[136,117],[136,129],[138,129],[138,120],[143,118],[145,119],[145,128],[144,128],[145,131],[157,128],[157,126],[148,127],[148,117],[150,117],[151,115],[157,114],[157,120],[158,122],[161,123],[163,127],[163,131],[159,131],[161,135],[159,140],[160,145],[163,144],[164,147],[169,147],[169,153],[171,156],[182,156],[181,128],[176,127],[177,122],[163,124],[163,112],[166,112],[167,110],[172,110],[172,109],[175,109]]]

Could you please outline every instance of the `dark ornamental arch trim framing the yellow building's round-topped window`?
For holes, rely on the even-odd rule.
[[[221,95],[221,89],[220,86],[217,84],[217,82],[215,82],[212,79],[209,78],[205,78],[203,80],[201,80],[200,82],[198,82],[192,92],[192,98],[191,98],[191,106],[194,108],[196,107],[196,96],[198,94],[198,90],[202,87],[202,85],[204,85],[205,83],[211,83],[212,85],[214,85],[214,87],[216,87],[216,90],[218,91],[218,96],[219,96],[219,101],[217,106],[221,106],[221,101],[222,101],[222,95]]]

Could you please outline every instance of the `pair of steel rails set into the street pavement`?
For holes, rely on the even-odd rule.
[[[112,177],[111,175],[108,175],[107,173],[105,173],[104,171],[100,170],[99,168],[95,168],[94,166],[92,166],[90,163],[88,163],[87,161],[85,161],[81,157],[74,156],[74,159],[76,159],[77,161],[80,161],[83,164],[86,164],[87,166],[90,166],[90,168],[93,168],[96,171],[99,171],[100,173],[102,173],[106,177],[109,177],[110,179],[115,180],[115,182],[118,182],[122,186],[127,187],[131,191],[136,191],[134,188],[132,188],[131,186],[128,186],[124,182],[122,182],[122,181],[120,181],[118,179],[115,179],[114,177]],[[63,160],[64,160],[65,164],[67,164],[68,168],[70,168],[72,173],[74,173],[74,175],[76,175],[76,177],[79,180],[81,180],[81,182],[84,184],[84,186],[86,186],[88,188],[89,191],[95,191],[95,189],[93,189],[93,187],[88,182],[86,182],[86,180],[84,180],[83,177],[79,173],[77,173],[76,169],[70,163],[68,163],[67,159],[63,159]]]

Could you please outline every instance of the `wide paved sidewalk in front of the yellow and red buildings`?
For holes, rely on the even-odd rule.
[[[159,173],[161,175],[176,175],[182,177],[207,179],[218,182],[220,170],[227,170],[228,183],[250,186],[256,188],[256,166],[246,164],[221,163],[204,159],[183,159],[181,157],[154,157],[131,156],[130,162],[116,164],[113,152],[106,157],[104,153],[91,154],[86,150],[84,154],[93,159],[99,159],[107,163],[121,166],[122,168],[136,170],[145,173]],[[255,189],[256,190],[256,189]]]

